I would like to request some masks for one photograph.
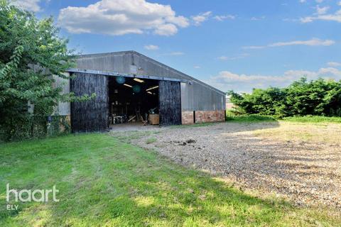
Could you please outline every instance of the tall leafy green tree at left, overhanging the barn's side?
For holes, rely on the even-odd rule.
[[[58,101],[75,99],[52,86],[52,75],[65,78],[63,72],[74,59],[67,39],[58,33],[53,18],[38,20],[0,0],[0,133],[4,140],[32,134],[30,128],[52,115]],[[34,116],[28,114],[28,101],[35,105]]]

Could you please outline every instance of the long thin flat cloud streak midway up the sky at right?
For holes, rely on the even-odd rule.
[[[262,48],[275,48],[275,47],[281,47],[281,46],[286,46],[286,45],[309,45],[309,46],[328,46],[328,45],[334,45],[335,41],[334,40],[320,40],[318,38],[313,38],[311,40],[295,40],[291,42],[279,42],[279,43],[271,43],[266,46],[247,46],[243,47],[243,49],[262,49]]]

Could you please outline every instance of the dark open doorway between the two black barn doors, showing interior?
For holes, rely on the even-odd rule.
[[[159,81],[131,77],[109,77],[109,127],[121,124],[159,124]],[[147,122],[148,121],[148,122]]]

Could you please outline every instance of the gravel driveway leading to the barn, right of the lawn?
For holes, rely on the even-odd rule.
[[[161,128],[132,143],[181,165],[223,175],[247,189],[275,192],[300,205],[341,209],[340,145],[254,136],[257,129],[276,127],[280,125],[267,122]],[[156,141],[148,143],[148,138]]]

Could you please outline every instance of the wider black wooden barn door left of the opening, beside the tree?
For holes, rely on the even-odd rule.
[[[95,93],[90,101],[71,103],[71,127],[73,133],[108,131],[108,79],[97,74],[75,73],[71,79],[71,91],[75,96]]]

